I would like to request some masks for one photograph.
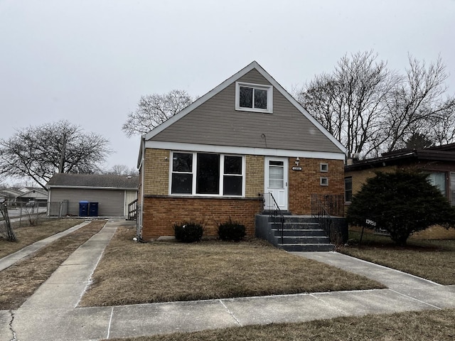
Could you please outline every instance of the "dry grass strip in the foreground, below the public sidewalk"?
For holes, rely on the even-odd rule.
[[[109,339],[110,341],[419,341],[454,340],[455,310],[425,310],[362,318],[336,318],[309,323],[253,325],[242,328],[174,333],[149,337]]]

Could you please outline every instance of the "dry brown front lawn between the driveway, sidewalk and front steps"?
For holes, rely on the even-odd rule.
[[[291,255],[257,239],[137,244],[132,242],[134,233],[126,227],[117,230],[81,305],[384,288],[368,278]]]

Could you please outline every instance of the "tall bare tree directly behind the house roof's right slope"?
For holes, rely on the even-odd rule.
[[[297,100],[346,146],[348,154],[370,153],[398,80],[373,51],[345,55],[332,74],[316,76]]]

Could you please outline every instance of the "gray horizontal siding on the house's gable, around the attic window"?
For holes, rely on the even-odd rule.
[[[269,85],[257,70],[248,72],[238,81]],[[235,82],[156,134],[151,141],[340,152],[276,88],[273,89],[273,114],[236,111]]]

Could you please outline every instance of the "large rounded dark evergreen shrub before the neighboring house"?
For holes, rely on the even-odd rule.
[[[427,174],[397,171],[368,179],[354,195],[347,218],[350,224],[385,229],[395,243],[405,245],[412,233],[433,224],[454,227],[455,209]]]

